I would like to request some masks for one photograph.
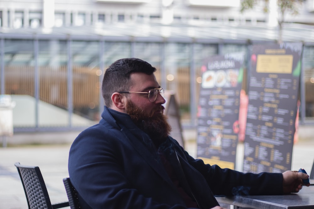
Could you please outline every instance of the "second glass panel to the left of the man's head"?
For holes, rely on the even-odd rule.
[[[67,43],[40,40],[38,47],[39,126],[67,127]]]

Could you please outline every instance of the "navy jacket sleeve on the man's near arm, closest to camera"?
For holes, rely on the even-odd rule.
[[[117,140],[112,133],[89,128],[73,142],[69,153],[69,176],[84,203],[93,209],[186,208],[182,205],[158,203],[137,191],[125,175],[128,172],[122,166],[125,159],[119,153],[119,146],[123,145],[117,143]]]

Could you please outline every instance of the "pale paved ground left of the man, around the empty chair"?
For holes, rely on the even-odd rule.
[[[69,148],[69,144],[0,148],[0,209],[28,208],[15,162],[39,166],[51,202],[67,201],[62,179],[68,177]]]

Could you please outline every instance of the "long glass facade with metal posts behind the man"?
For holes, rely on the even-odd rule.
[[[182,125],[196,126],[203,60],[232,52],[247,55],[250,48],[238,43],[57,37],[3,38],[1,44],[0,76],[5,84],[1,84],[1,93],[10,94],[16,101],[15,132],[71,130],[97,123],[103,110],[103,72],[114,61],[127,57],[137,57],[155,66],[161,87],[176,94]],[[313,60],[314,45],[305,45],[300,88],[300,122],[305,123],[314,118]],[[242,88],[246,90],[246,85]]]

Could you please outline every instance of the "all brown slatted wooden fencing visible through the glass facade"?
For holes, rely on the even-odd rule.
[[[73,67],[73,108],[93,108],[99,106],[99,95],[101,83],[97,76],[97,68]],[[39,67],[39,98],[52,105],[67,108],[68,106],[68,73],[67,67]],[[201,76],[200,69],[196,70],[197,75]],[[176,92],[176,98],[180,106],[190,104],[190,84],[191,76],[189,67],[179,67],[174,75],[174,80],[167,81],[165,89]],[[160,83],[160,70],[157,69],[157,81]],[[245,74],[244,74],[245,75]],[[35,70],[33,66],[14,66],[5,67],[5,89],[6,94],[26,94],[35,96]],[[196,99],[200,84],[196,86]],[[243,86],[246,85],[246,78],[243,78]],[[244,87],[245,89],[245,87]],[[306,102],[314,103],[314,83],[305,83]],[[196,101],[196,102],[197,102]]]

